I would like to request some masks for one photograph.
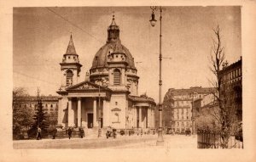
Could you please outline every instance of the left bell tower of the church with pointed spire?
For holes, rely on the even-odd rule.
[[[79,64],[79,55],[74,47],[72,34],[67,45],[67,51],[63,54],[60,64],[62,72],[61,88],[77,84],[82,64]]]

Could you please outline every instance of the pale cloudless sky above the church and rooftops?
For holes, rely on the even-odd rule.
[[[160,11],[155,11],[158,21],[152,27],[149,7],[14,8],[14,87],[26,87],[31,95],[37,87],[44,95],[57,95],[71,32],[83,65],[79,82],[84,81],[94,55],[107,41],[113,13],[120,40],[136,62],[139,94],[146,92],[158,102]],[[163,8],[162,55],[169,59],[162,60],[162,96],[169,88],[211,86],[209,56],[217,25],[225,59],[232,64],[241,57],[239,6]]]

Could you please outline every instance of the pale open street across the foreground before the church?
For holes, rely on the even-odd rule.
[[[42,140],[23,140],[14,141],[14,148],[162,148],[156,146],[157,135],[149,136],[124,136],[116,139],[105,137],[100,138],[72,138],[72,139],[42,139]],[[184,135],[164,136],[166,148],[196,148],[196,137],[186,137]]]

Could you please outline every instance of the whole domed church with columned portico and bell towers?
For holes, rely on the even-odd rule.
[[[138,95],[137,68],[129,50],[121,44],[115,19],[108,26],[108,40],[96,53],[90,73],[78,82],[79,54],[73,36],[61,62],[58,125],[97,130],[154,129],[153,98]]]

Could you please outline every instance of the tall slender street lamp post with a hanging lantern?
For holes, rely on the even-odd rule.
[[[154,19],[154,10],[156,7],[150,7],[152,9],[151,20],[150,24],[154,27],[157,20]],[[163,138],[163,119],[162,119],[162,102],[161,102],[161,92],[162,92],[162,8],[160,7],[160,53],[159,53],[159,63],[160,63],[160,75],[159,75],[159,129],[158,129],[158,139],[156,145],[164,145],[164,138]]]

